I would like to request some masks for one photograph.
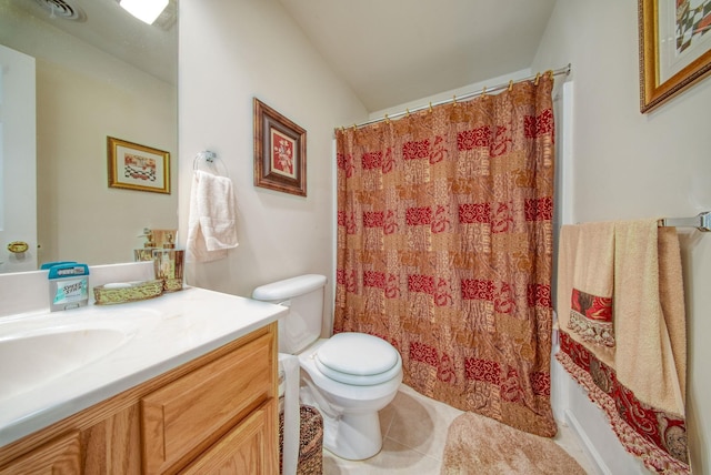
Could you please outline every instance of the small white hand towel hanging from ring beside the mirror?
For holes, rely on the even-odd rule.
[[[227,257],[227,250],[237,247],[234,206],[229,178],[194,171],[186,244],[188,261],[216,261]]]

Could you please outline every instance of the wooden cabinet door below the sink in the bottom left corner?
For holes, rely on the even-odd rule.
[[[0,475],[79,474],[81,474],[79,432],[48,442],[0,468]]]

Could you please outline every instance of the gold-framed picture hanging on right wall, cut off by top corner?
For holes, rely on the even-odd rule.
[[[711,73],[711,0],[639,0],[640,111]]]

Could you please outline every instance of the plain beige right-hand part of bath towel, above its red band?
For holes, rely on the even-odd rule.
[[[660,246],[675,259],[663,259]],[[660,273],[662,262],[665,274]],[[617,223],[614,274],[618,378],[640,401],[683,415],[687,344],[675,230],[659,229],[655,220]],[[660,285],[668,290],[665,302]],[[669,304],[667,313],[663,304]]]

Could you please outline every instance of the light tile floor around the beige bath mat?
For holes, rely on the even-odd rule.
[[[447,429],[461,413],[402,385],[392,403],[380,412],[382,451],[374,457],[353,462],[339,458],[324,449],[323,474],[437,475],[440,473]],[[559,425],[555,442],[589,474],[597,473],[568,427]]]

